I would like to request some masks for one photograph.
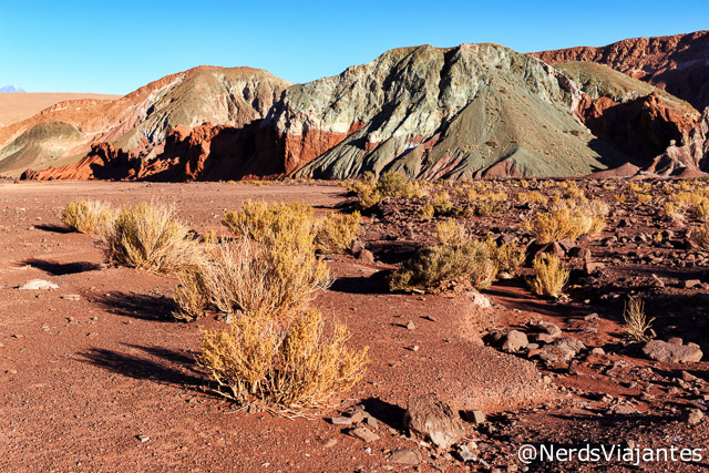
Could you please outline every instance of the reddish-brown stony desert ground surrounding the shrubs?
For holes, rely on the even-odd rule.
[[[453,194],[461,184],[440,185]],[[687,209],[670,218],[662,210],[682,185],[688,184],[575,182],[572,187],[607,203],[606,227],[593,238],[544,247],[535,246],[523,225],[542,204],[520,194],[558,195],[568,184],[485,182],[481,193],[504,192],[505,198],[491,213],[460,222],[474,236],[518,241],[530,256],[562,257],[572,274],[567,296],[557,300],[530,290],[528,265],[480,292],[391,292],[386,274],[418,247],[434,244],[441,218],[419,218],[419,200],[384,199],[363,214],[360,238],[373,258],[322,255],[336,279],[312,302],[327,319],[347,323],[349,343],[370,347],[367,374],[331,407],[287,417],[238,409],[210,392],[195,354],[201,328],[224,327],[224,317],[173,321],[174,277],[107,261],[100,240],[70,232],[59,214],[76,199],[114,206],[160,200],[173,203],[197,233],[223,234],[224,210],[246,199],[304,202],[318,214],[348,212],[352,196],[346,187],[0,183],[0,469],[626,471],[630,466],[617,460],[525,464],[517,450],[604,442],[706,449],[708,423],[695,420],[707,410],[709,362],[651,360],[624,336],[624,302],[640,295],[655,338],[681,338],[679,343],[709,351],[709,257],[692,243],[692,229],[706,216]],[[706,183],[691,185],[696,192]],[[59,288],[18,289],[32,279]],[[538,321],[559,332],[540,333],[551,326]],[[510,330],[528,335],[530,345],[503,348]],[[436,450],[408,435],[402,417],[409,399],[431,392],[456,411],[485,414],[480,424],[464,422],[458,442],[464,449]],[[351,434],[353,425],[331,421],[358,410],[366,412],[376,440],[364,442]],[[471,455],[461,455],[463,450]],[[395,453],[402,451],[413,461],[400,463]],[[708,456],[705,451],[699,462],[641,467],[700,471],[709,469]]]

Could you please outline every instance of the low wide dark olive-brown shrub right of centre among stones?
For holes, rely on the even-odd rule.
[[[490,287],[497,266],[484,241],[422,248],[390,277],[391,290],[434,292],[453,282]]]

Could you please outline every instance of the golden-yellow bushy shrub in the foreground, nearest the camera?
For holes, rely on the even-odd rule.
[[[364,376],[368,349],[349,349],[343,325],[326,337],[317,309],[297,311],[287,326],[276,320],[246,313],[227,329],[204,332],[197,360],[222,394],[240,404],[257,399],[300,410],[327,402]]]

